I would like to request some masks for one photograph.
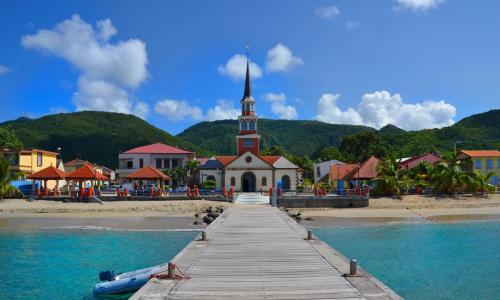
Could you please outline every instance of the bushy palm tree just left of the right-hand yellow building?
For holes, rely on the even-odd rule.
[[[456,152],[445,155],[433,169],[432,181],[436,191],[455,195],[471,185],[469,172],[464,171],[463,162],[457,159]]]

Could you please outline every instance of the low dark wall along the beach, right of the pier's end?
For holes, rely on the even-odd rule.
[[[278,199],[278,205],[284,208],[355,208],[368,207],[367,196],[284,196]]]

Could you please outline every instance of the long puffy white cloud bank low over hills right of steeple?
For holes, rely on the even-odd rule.
[[[364,94],[357,110],[342,111],[340,95],[324,94],[318,101],[316,119],[336,124],[356,124],[381,128],[393,124],[406,130],[440,128],[454,123],[456,108],[443,100],[404,103],[399,94],[387,91]]]

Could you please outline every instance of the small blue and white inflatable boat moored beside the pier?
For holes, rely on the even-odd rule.
[[[166,271],[168,264],[121,273],[115,276],[113,271],[99,273],[99,280],[105,281],[96,284],[95,295],[116,295],[137,291],[151,278],[151,275]]]

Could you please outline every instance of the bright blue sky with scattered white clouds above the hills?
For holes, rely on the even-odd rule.
[[[499,108],[500,2],[2,1],[0,121],[96,109],[176,134],[235,118],[450,125]]]

